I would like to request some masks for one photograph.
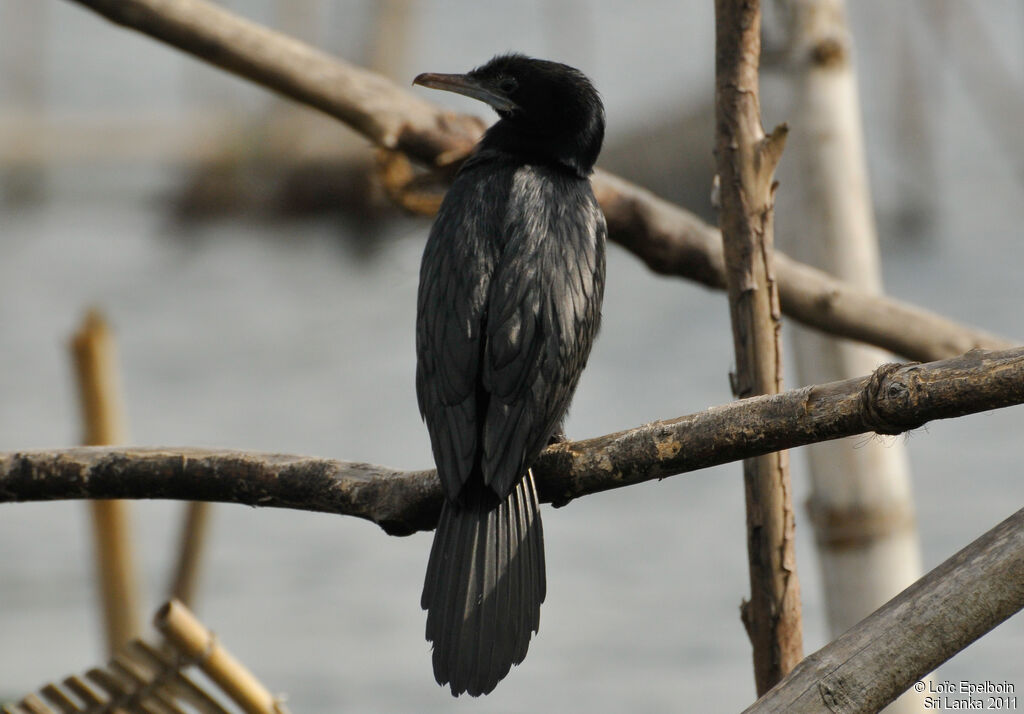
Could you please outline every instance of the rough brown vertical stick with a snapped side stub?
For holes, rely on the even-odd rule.
[[[761,127],[757,0],[715,2],[715,154],[722,240],[736,353],[737,397],[780,391],[778,289],[772,271],[774,172],[784,126]],[[794,551],[788,458],[776,452],[743,462],[751,599],[742,610],[754,645],[758,694],[803,659],[800,584]]]

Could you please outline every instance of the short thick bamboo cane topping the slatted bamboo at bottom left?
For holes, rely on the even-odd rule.
[[[284,714],[287,711],[181,602],[165,603],[154,624],[177,650],[194,660],[246,712]]]

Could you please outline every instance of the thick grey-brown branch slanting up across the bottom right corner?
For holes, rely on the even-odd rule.
[[[873,714],[1024,608],[1024,509],[814,653],[745,714]]]

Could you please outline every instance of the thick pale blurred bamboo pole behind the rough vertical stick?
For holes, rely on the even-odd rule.
[[[790,81],[796,94],[790,145],[797,159],[784,212],[800,236],[790,254],[867,293],[882,293],[878,237],[867,179],[852,38],[843,0],[788,0]],[[888,354],[796,327],[804,384],[869,372]],[[807,450],[808,510],[815,531],[833,637],[922,573],[904,445],[845,438]],[[908,691],[889,711],[921,711]]]

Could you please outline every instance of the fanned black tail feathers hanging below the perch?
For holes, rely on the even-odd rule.
[[[437,682],[456,697],[494,689],[526,657],[546,589],[532,473],[505,501],[489,489],[445,501],[421,599]]]

